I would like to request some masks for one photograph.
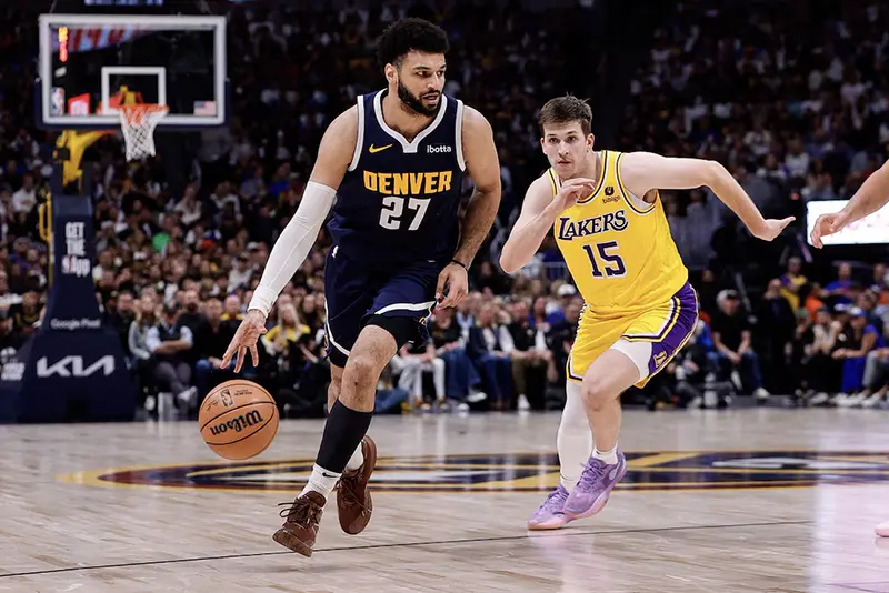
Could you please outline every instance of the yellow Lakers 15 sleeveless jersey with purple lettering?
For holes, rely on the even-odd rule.
[[[590,313],[633,314],[669,301],[688,281],[660,199],[653,204],[621,182],[620,152],[601,151],[593,192],[561,212],[553,233]],[[556,195],[561,181],[546,173]]]

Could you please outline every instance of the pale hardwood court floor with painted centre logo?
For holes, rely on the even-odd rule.
[[[320,421],[243,463],[190,422],[0,426],[0,591],[889,591],[889,413],[630,412],[605,511],[528,534],[557,424],[374,419],[373,520],[348,536],[330,501],[311,559],[271,534]]]

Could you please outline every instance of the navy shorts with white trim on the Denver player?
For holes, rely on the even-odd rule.
[[[426,341],[426,320],[436,305],[436,285],[443,268],[429,260],[369,265],[331,249],[324,268],[324,334],[330,362],[346,366],[358,334],[372,315],[413,318],[417,332],[408,341]]]

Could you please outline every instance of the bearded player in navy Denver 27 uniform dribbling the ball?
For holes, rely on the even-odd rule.
[[[386,29],[378,58],[388,87],[358,98],[324,132],[299,210],[276,242],[249,311],[222,359],[247,351],[302,264],[329,211],[327,258],[330,413],[309,483],[282,511],[274,541],[310,556],[337,483],[340,526],[363,531],[377,448],[367,436],[377,381],[407,342],[424,338],[434,306],[467,293],[467,269],[500,203],[500,164],[488,121],[442,93],[448,37],[421,19]],[[463,175],[475,193],[458,220]],[[334,203],[336,195],[336,203]]]

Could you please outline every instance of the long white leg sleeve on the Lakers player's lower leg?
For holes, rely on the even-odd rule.
[[[592,453],[592,431],[580,396],[580,384],[568,381],[556,449],[559,452],[559,482],[569,492],[575,488]]]

